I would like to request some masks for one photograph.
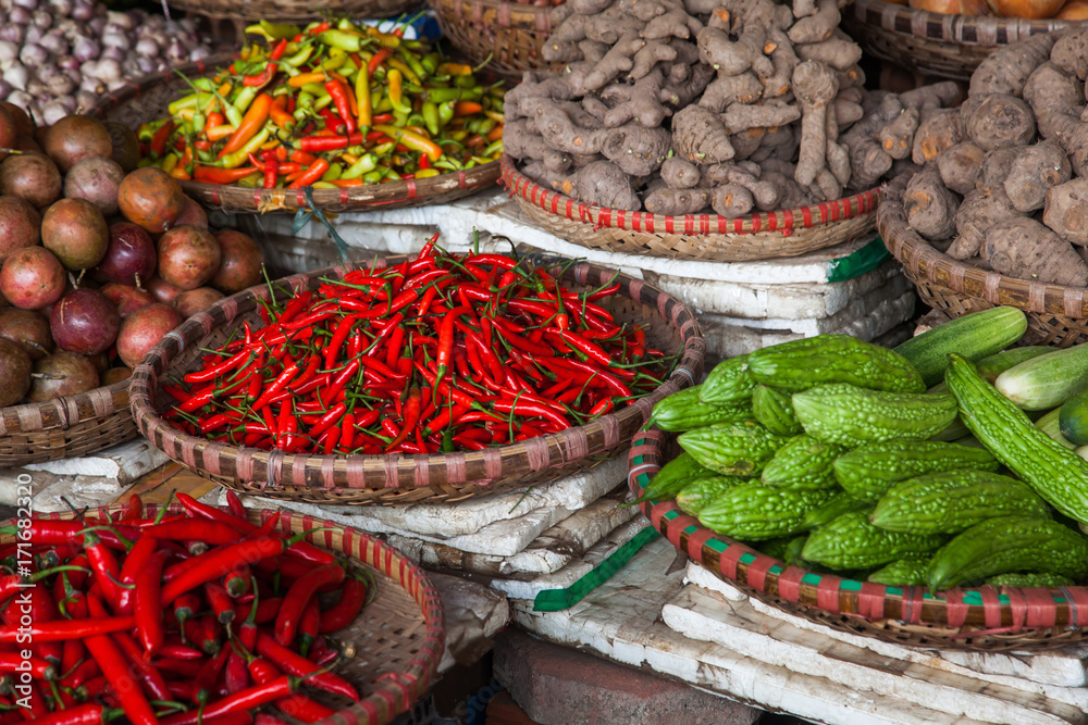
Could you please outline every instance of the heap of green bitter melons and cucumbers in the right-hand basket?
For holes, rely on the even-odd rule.
[[[655,407],[684,452],[641,500],[879,584],[1088,580],[1088,449],[1059,424],[1084,413],[1088,347],[1002,351],[1026,327],[994,308],[895,350],[823,335],[726,361]]]

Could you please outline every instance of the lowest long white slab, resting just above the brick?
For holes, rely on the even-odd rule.
[[[531,601],[514,600],[515,617],[530,632],[560,643],[593,650],[635,667],[650,667],[697,687],[776,712],[789,712],[828,725],[980,725],[981,723],[1086,722],[1084,713],[1072,720],[1050,718],[1040,709],[1009,703],[997,686],[981,684],[981,691],[963,691],[957,699],[973,708],[996,703],[1001,717],[978,720],[962,714],[963,708],[944,711],[871,689],[851,689],[823,674],[792,672],[787,666],[762,662],[728,647],[682,636],[659,620],[662,608],[680,592],[683,576],[667,574],[677,557],[664,539],[647,543],[611,579],[574,607],[561,612],[533,612]],[[724,609],[724,607],[721,608]],[[935,671],[934,676],[941,673]],[[964,678],[966,679],[966,678]],[[1019,693],[1023,695],[1023,693]],[[1066,707],[1066,705],[1063,705]],[[1003,714],[1002,714],[1003,713]],[[1004,714],[1024,718],[1013,720]]]

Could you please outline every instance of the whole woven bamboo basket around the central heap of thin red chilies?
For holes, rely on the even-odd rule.
[[[404,258],[379,259],[384,267]],[[366,266],[366,265],[358,265]],[[355,266],[336,266],[280,280],[292,289],[316,288],[319,277],[343,277]],[[178,376],[243,323],[262,327],[259,300],[267,287],[254,287],[200,312],[159,342],[136,367],[129,397],[133,416],[150,443],[174,461],[230,488],[264,497],[314,503],[396,505],[453,502],[473,496],[542,484],[592,467],[625,449],[658,400],[694,385],[703,370],[706,342],[687,305],[646,283],[616,276],[602,267],[579,264],[564,275],[578,287],[608,284],[620,290],[611,310],[617,322],[647,323],[647,345],[680,362],[669,379],[651,395],[585,425],[481,451],[432,455],[285,455],[189,436],[162,420],[158,411],[173,404],[159,387],[164,371]],[[277,295],[281,295],[277,291]],[[282,295],[281,295],[282,296]]]

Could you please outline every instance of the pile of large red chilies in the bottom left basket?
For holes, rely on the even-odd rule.
[[[372,577],[282,536],[279,513],[258,526],[237,497],[228,510],[177,499],[187,515],[146,517],[133,496],[113,520],[12,527],[0,722],[285,725],[359,699],[331,671],[343,652],[330,635],[373,599]]]

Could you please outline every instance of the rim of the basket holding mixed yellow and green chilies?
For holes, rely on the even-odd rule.
[[[195,61],[178,65],[169,71],[150,73],[135,82],[126,80],[116,90],[101,95],[98,103],[87,113],[95,117],[104,117],[110,111],[139,98],[151,88],[176,79],[177,74],[186,76],[203,76],[218,71],[221,66],[234,62],[234,53],[219,53],[205,61]],[[497,182],[502,173],[498,161],[474,166],[468,171],[447,172],[430,178],[407,179],[388,184],[370,184],[367,186],[346,187],[341,189],[313,189],[310,193],[316,209],[361,210],[378,209],[404,201],[415,201],[435,197],[449,191],[479,189]],[[251,212],[294,212],[298,209],[309,209],[305,189],[248,189],[233,184],[207,184],[203,182],[181,182],[182,189],[189,196],[199,197],[213,207],[226,203],[224,195],[230,195],[230,203],[237,210]]]

